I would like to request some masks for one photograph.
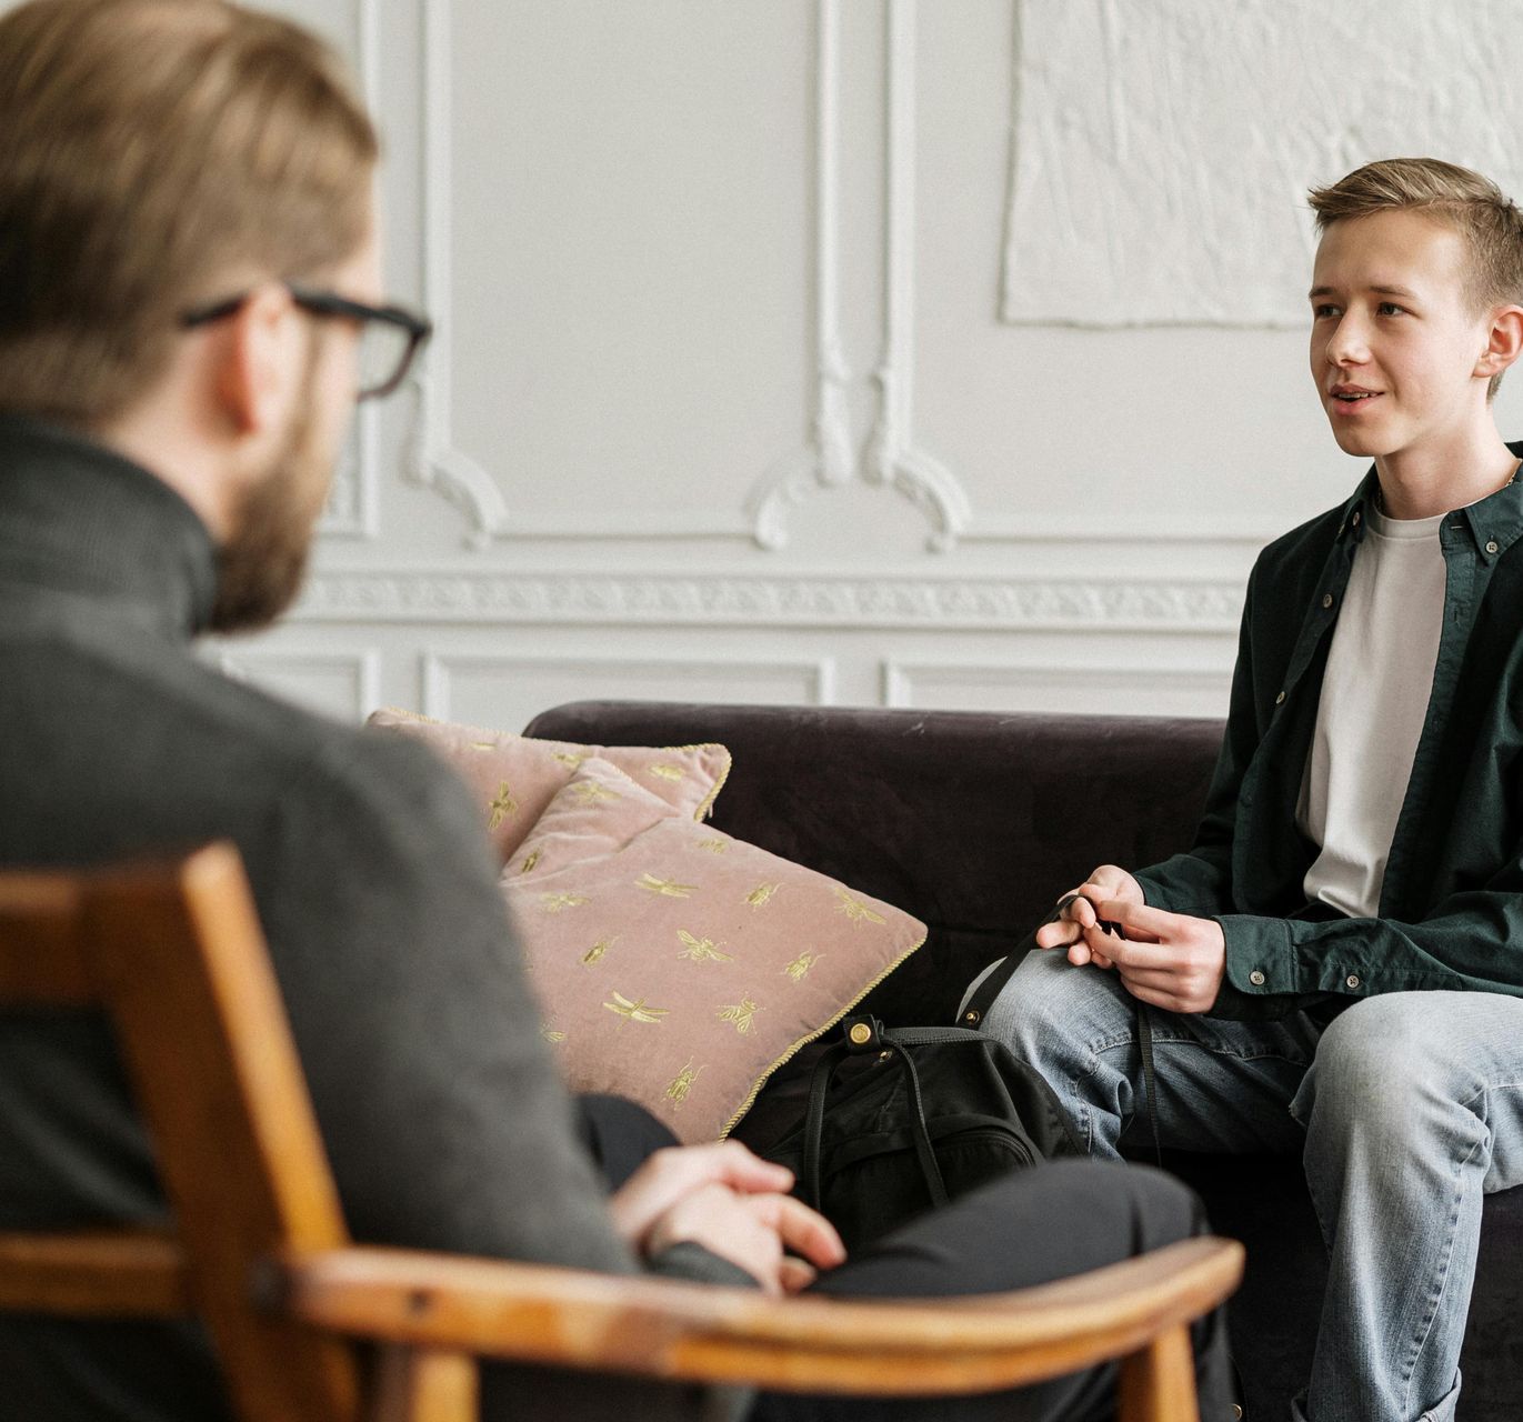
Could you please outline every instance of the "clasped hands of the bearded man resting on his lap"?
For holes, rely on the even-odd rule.
[[[792,1172],[739,1140],[656,1151],[614,1194],[614,1227],[640,1255],[679,1241],[702,1244],[751,1274],[768,1293],[804,1288],[815,1268],[847,1251],[835,1227],[787,1191]],[[803,1259],[792,1259],[795,1250]],[[809,1261],[809,1262],[806,1262]]]

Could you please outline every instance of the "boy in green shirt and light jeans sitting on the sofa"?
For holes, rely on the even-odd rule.
[[[1491,413],[1523,216],[1404,158],[1311,206],[1311,379],[1374,466],[1258,559],[1194,848],[1097,868],[985,1025],[1113,1157],[1147,1005],[1165,1143],[1304,1151],[1331,1273],[1296,1416],[1447,1419],[1482,1195],[1523,1181],[1523,445]]]

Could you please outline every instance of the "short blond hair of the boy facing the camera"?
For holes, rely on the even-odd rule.
[[[1468,253],[1464,298],[1477,315],[1523,306],[1523,213],[1489,178],[1441,158],[1381,158],[1308,193],[1317,234],[1377,212],[1421,212],[1461,234]],[[1502,376],[1493,376],[1488,399]]]

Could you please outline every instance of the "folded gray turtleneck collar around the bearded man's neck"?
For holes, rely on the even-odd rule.
[[[0,604],[18,586],[189,639],[210,620],[216,547],[140,464],[56,425],[0,416]]]

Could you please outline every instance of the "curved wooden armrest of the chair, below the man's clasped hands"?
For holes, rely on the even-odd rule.
[[[263,1291],[320,1329],[440,1352],[850,1393],[979,1392],[1124,1357],[1218,1305],[1243,1247],[1199,1238],[1072,1279],[937,1300],[771,1300],[749,1290],[350,1247]]]

